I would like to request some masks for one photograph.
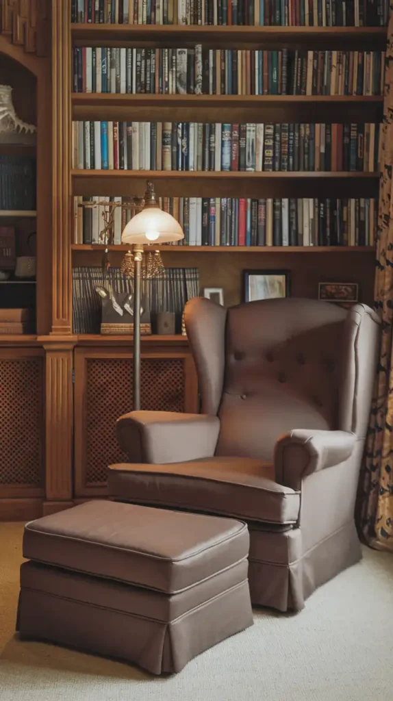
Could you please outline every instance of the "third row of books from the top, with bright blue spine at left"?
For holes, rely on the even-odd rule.
[[[76,170],[378,170],[379,124],[78,121]]]

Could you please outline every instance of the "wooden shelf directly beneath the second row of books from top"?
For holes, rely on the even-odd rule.
[[[72,93],[75,120],[380,122],[381,95],[129,95]]]

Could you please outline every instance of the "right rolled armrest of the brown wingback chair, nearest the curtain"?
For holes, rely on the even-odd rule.
[[[304,477],[350,457],[356,436],[347,431],[298,428],[283,435],[275,446],[275,480],[301,489]]]

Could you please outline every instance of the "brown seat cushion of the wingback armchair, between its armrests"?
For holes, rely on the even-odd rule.
[[[214,457],[187,463],[124,463],[109,468],[109,494],[132,501],[247,521],[294,524],[300,494],[274,480],[274,466],[254,458]]]

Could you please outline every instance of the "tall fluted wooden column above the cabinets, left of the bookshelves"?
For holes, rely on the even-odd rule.
[[[70,0],[52,0],[53,305],[52,334],[71,333]]]

